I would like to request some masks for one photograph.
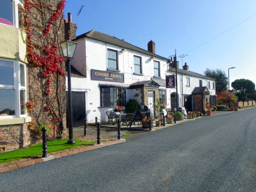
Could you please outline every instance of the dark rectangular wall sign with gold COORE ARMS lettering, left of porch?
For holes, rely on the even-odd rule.
[[[92,80],[115,81],[124,83],[123,73],[114,73],[109,71],[99,71],[91,69],[91,78]]]

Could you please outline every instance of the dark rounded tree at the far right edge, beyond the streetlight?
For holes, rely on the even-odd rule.
[[[242,101],[246,101],[248,97],[253,99],[255,97],[255,84],[249,79],[236,79],[231,83],[236,95]]]

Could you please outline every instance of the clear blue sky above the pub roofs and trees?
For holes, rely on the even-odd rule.
[[[236,67],[230,84],[242,78],[256,84],[256,0],[66,1],[65,18],[72,13],[76,24],[84,6],[77,36],[93,29],[146,50],[152,40],[158,55],[168,58],[174,49],[177,56],[188,55],[178,60],[190,71],[221,69],[228,76],[228,68]]]

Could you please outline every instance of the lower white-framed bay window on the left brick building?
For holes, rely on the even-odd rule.
[[[0,59],[0,118],[26,115],[26,65]]]

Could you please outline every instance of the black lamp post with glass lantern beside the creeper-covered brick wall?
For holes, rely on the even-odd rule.
[[[72,122],[72,99],[71,99],[71,71],[70,71],[70,58],[73,58],[77,43],[70,40],[60,42],[60,46],[64,57],[67,58],[66,63],[68,67],[68,144],[75,144],[73,140],[73,122]]]

